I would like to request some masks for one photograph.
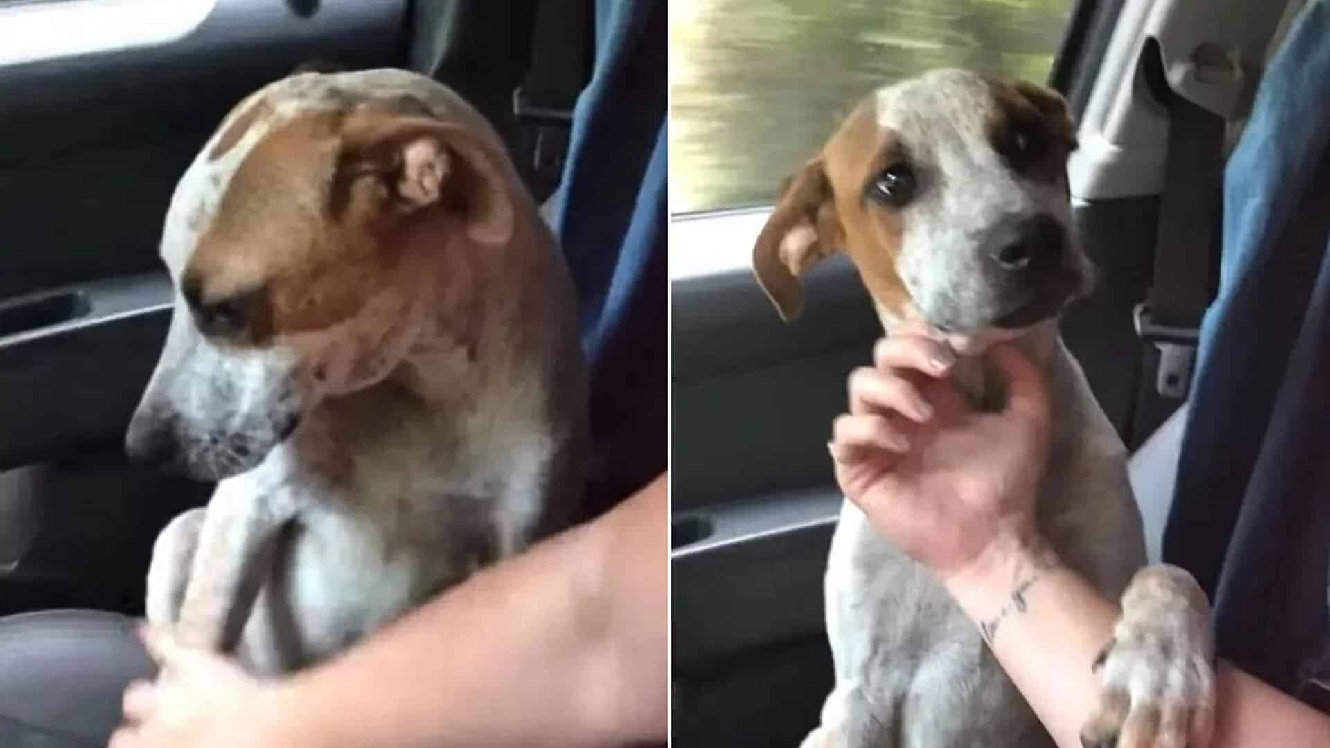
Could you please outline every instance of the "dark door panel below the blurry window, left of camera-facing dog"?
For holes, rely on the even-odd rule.
[[[786,323],[747,269],[674,281],[674,511],[831,479],[827,414],[880,327],[843,258],[803,286]]]

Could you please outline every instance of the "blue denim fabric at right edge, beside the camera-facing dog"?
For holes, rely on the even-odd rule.
[[[1313,0],[1261,81],[1224,184],[1164,558],[1216,606],[1220,655],[1303,696],[1330,675],[1330,12]]]

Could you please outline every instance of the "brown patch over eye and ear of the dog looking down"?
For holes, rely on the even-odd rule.
[[[426,268],[411,252],[444,252],[434,237],[507,242],[513,205],[496,148],[407,97],[273,126],[231,176],[182,273],[201,329],[235,342],[329,329],[375,294],[415,289]],[[467,258],[448,262],[466,274]]]

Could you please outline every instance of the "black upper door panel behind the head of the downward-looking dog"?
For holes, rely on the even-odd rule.
[[[404,0],[315,5],[217,0],[170,44],[0,67],[0,298],[156,269],[176,181],[245,94],[313,57],[396,63]]]

